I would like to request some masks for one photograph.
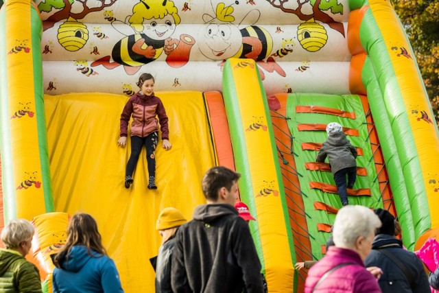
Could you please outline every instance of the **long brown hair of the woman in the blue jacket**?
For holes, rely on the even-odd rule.
[[[88,255],[93,255],[91,250],[99,253],[99,257],[107,255],[106,249],[102,245],[102,237],[97,231],[95,219],[87,213],[77,213],[73,215],[67,228],[66,244],[54,257],[54,264],[61,268],[61,263],[65,257],[69,257],[70,250],[73,246],[83,245],[87,248]]]

